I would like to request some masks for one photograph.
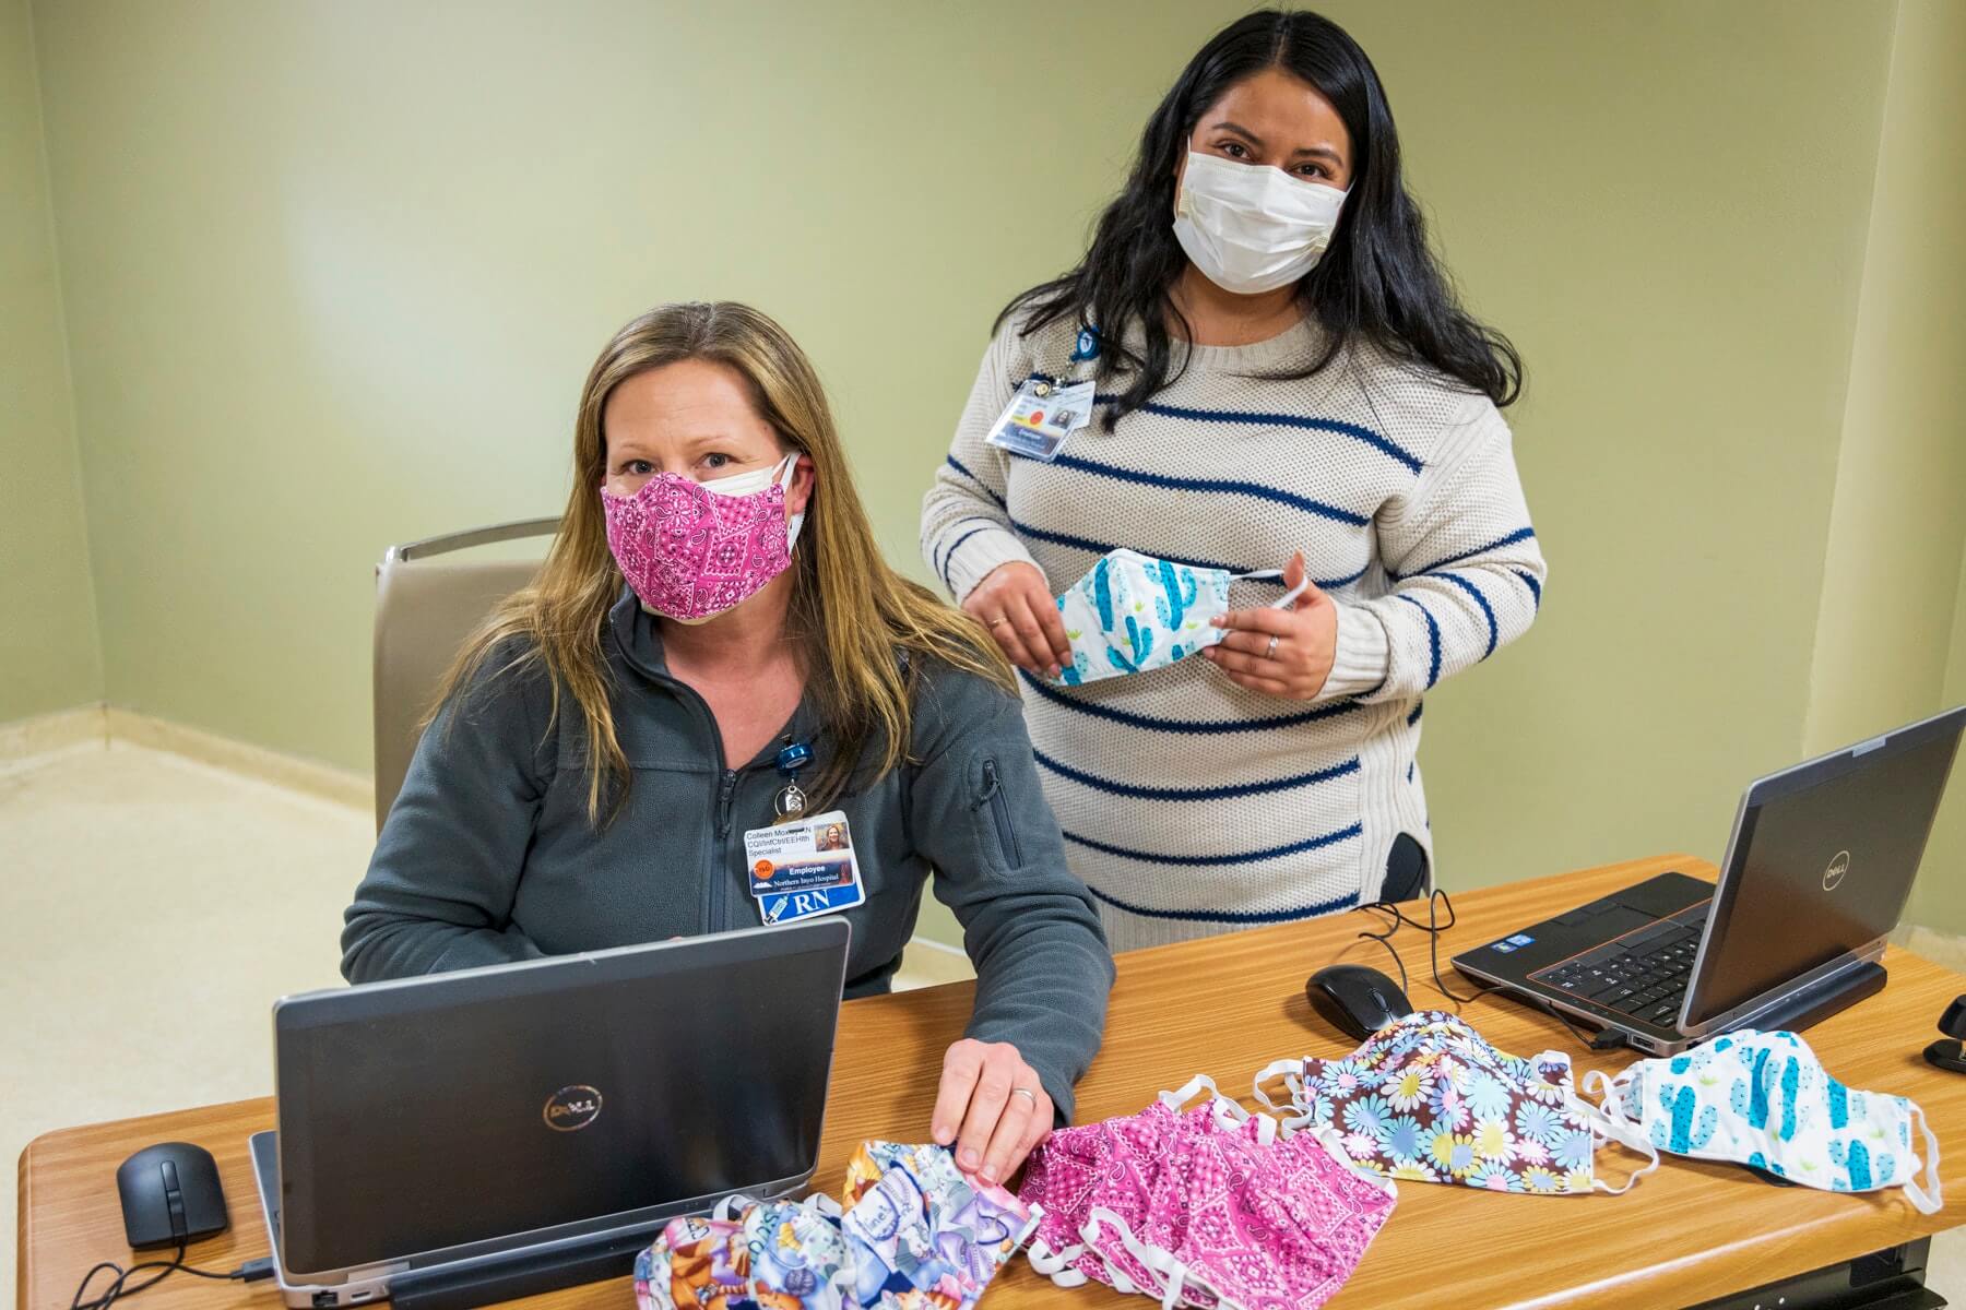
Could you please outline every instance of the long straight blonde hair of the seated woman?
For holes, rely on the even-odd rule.
[[[552,687],[547,733],[558,723],[562,695],[572,697],[586,727],[588,817],[596,825],[604,797],[625,795],[629,780],[602,646],[607,611],[623,587],[607,550],[598,491],[607,475],[602,412],[629,377],[682,359],[714,359],[735,369],[757,412],[781,440],[812,460],[812,497],[792,552],[786,628],[800,642],[806,695],[834,742],[808,788],[818,807],[838,797],[871,738],[881,738],[875,778],[908,758],[910,701],[924,658],[1016,691],[1009,662],[975,619],[944,605],[881,558],[847,475],[826,391],[784,328],[729,300],[663,304],[615,332],[588,371],[574,418],[574,489],[552,550],[533,583],[503,601],[464,644],[431,709],[434,717],[436,707],[472,685],[492,652],[507,642],[513,658],[493,676],[545,666]]]

